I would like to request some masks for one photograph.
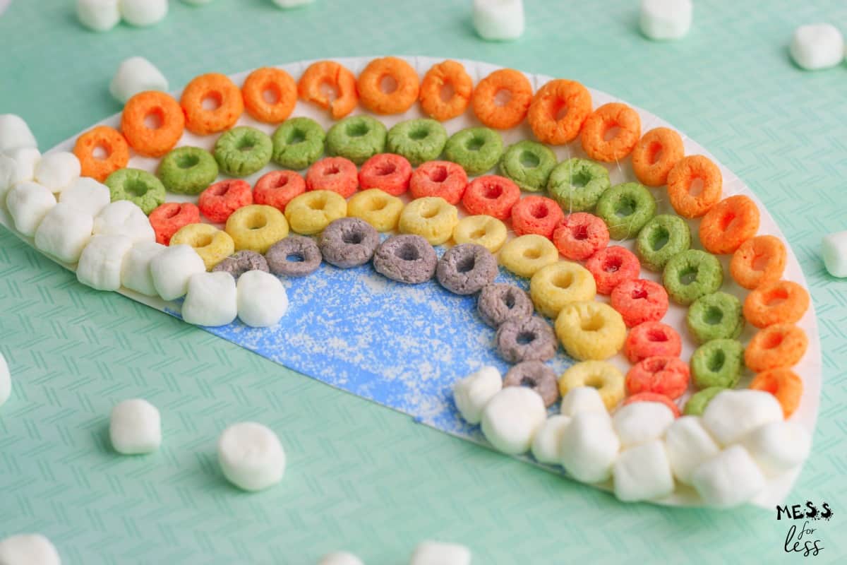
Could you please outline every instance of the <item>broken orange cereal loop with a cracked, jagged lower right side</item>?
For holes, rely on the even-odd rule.
[[[327,96],[324,91],[326,87],[335,92],[335,98]],[[349,69],[335,61],[310,64],[297,83],[297,93],[307,102],[314,102],[321,108],[329,108],[333,119],[341,119],[350,114],[359,101],[356,77]]]

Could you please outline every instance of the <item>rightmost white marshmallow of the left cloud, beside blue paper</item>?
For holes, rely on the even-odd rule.
[[[285,286],[273,274],[247,271],[238,277],[238,317],[253,328],[269,328],[288,310]]]

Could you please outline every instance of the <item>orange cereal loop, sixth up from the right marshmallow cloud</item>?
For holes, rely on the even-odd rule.
[[[711,159],[689,155],[667,174],[667,197],[683,218],[700,218],[721,199],[723,177]]]

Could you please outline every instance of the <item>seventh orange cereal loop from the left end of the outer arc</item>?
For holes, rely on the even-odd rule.
[[[446,89],[452,89],[449,98],[443,96]],[[421,108],[430,118],[440,122],[464,114],[471,103],[473,79],[465,72],[465,67],[457,61],[446,60],[434,64],[421,81]]]

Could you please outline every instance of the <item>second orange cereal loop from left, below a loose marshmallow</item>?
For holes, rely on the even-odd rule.
[[[120,130],[138,154],[162,157],[180,141],[185,130],[185,114],[169,94],[139,92],[126,101]]]

